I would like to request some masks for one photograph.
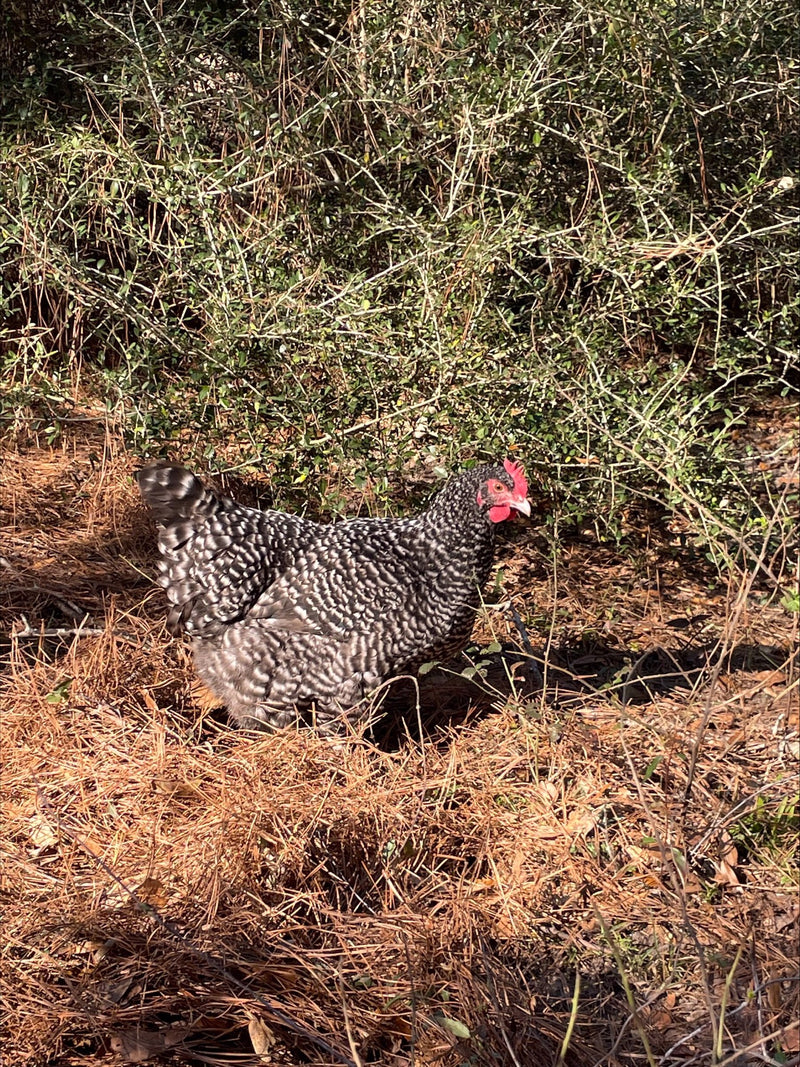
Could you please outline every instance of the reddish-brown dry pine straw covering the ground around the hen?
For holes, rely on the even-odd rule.
[[[797,793],[786,612],[518,530],[544,695],[495,670],[383,747],[235,732],[164,633],[134,467],[109,434],[4,456],[2,628],[92,631],[6,641],[9,1064],[550,1064],[576,974],[567,1064],[791,1058],[796,857],[731,835]],[[479,636],[519,643],[497,611]],[[622,653],[665,675],[624,710]]]

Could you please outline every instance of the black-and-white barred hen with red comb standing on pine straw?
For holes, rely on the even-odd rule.
[[[139,474],[161,529],[172,633],[239,723],[321,729],[386,679],[461,652],[492,567],[495,526],[530,515],[509,460],[453,478],[416,519],[330,525],[258,511],[157,463]]]

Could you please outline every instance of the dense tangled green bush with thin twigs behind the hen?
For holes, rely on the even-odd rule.
[[[277,484],[515,446],[607,529],[763,525],[730,429],[793,384],[794,3],[3,18],[7,423],[89,395]]]

